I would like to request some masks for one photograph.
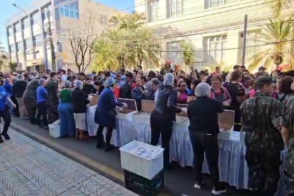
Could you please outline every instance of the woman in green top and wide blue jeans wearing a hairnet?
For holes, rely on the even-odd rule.
[[[64,81],[64,87],[59,93],[58,116],[60,119],[60,136],[74,136],[73,104],[71,99],[72,82]]]

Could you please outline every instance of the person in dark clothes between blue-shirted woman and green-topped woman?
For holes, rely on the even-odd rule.
[[[57,73],[51,72],[49,81],[47,82],[47,122],[48,124],[54,123],[59,119],[57,106],[58,99],[58,84],[56,82]]]

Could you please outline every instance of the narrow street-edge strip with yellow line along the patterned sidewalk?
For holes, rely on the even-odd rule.
[[[87,156],[81,155],[79,153],[76,153],[75,151],[63,147],[62,145],[56,144],[52,141],[49,141],[44,136],[40,136],[38,134],[34,134],[25,127],[22,127],[16,123],[10,124],[10,128],[16,130],[19,133],[24,134],[25,136],[31,138],[32,140],[49,147],[53,149],[54,151],[72,159],[73,161],[85,166],[86,168],[89,168],[90,170],[93,170],[94,172],[97,172],[98,174],[110,179],[111,181],[121,185],[124,187],[124,175],[121,172],[117,172],[105,165],[102,165],[98,163],[97,161],[94,161]],[[172,194],[171,190],[168,190],[166,186],[164,186],[163,191],[158,196],[178,196],[178,194]]]

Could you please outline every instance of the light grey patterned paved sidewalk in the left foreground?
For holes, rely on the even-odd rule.
[[[0,196],[137,196],[25,135],[0,144]]]

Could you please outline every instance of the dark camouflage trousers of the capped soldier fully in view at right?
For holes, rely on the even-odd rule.
[[[248,188],[273,195],[280,178],[281,154],[257,153],[247,148],[245,159],[249,169]]]

